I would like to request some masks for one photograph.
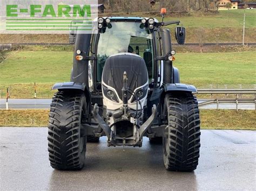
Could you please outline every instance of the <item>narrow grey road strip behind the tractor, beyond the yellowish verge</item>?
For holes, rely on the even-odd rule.
[[[209,101],[198,99],[198,103]],[[9,99],[10,109],[49,109],[51,100],[49,99]],[[5,100],[0,99],[0,109],[5,109]],[[217,109],[217,104],[205,105],[200,109]],[[220,103],[219,109],[235,109],[235,103]],[[238,109],[255,109],[254,103],[239,103]]]

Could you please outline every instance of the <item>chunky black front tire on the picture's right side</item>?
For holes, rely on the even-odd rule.
[[[168,125],[163,138],[164,165],[171,171],[197,168],[200,147],[200,118],[192,93],[167,94],[164,112]]]

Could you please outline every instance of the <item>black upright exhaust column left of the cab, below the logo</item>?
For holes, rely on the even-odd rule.
[[[91,34],[77,34],[76,36],[76,45],[74,51],[74,60],[73,60],[73,69],[71,75],[72,82],[85,83],[89,87],[89,78],[88,78],[88,66],[89,60],[76,60],[77,50],[83,51],[83,55],[89,56],[90,52],[90,43],[91,43]]]

